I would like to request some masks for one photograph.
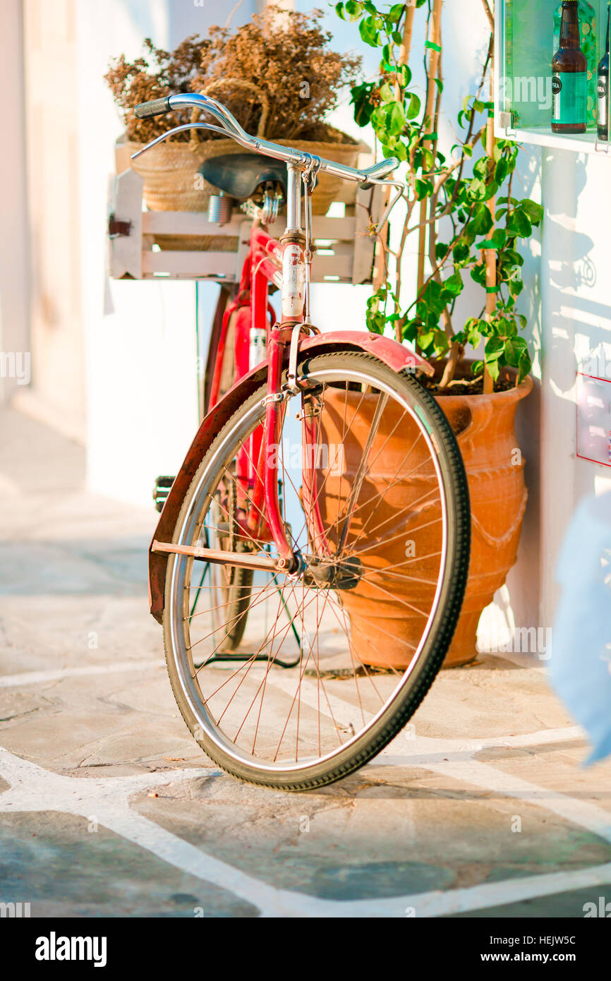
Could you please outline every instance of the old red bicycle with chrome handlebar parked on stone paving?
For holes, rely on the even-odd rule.
[[[311,321],[317,175],[394,186],[380,231],[403,193],[389,178],[398,162],[357,170],[282,147],[203,95],[135,114],[188,108],[214,123],[139,152],[194,125],[223,132],[251,152],[208,162],[204,176],[256,210],[208,412],[151,543],[151,612],[200,748],[243,780],[307,790],[375,756],[429,691],[465,589],[467,480],[416,377],[432,367],[395,340]],[[282,204],[276,240],[265,226]]]

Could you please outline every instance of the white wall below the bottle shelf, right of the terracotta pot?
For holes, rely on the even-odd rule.
[[[576,373],[611,381],[611,160],[543,152],[545,224],[541,263],[541,620],[556,599],[551,575],[580,499],[611,490],[611,468],[576,456]]]

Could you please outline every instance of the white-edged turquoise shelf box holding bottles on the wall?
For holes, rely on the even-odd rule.
[[[587,129],[577,134],[551,130],[551,61],[559,0],[497,0],[494,6],[496,135],[611,158],[611,143],[600,139],[596,129],[597,67],[605,51],[608,0],[580,0],[586,11],[581,26],[588,68]]]

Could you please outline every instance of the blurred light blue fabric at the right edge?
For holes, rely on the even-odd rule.
[[[593,763],[611,753],[611,493],[586,497],[556,569],[562,587],[548,668],[551,683],[587,732]]]

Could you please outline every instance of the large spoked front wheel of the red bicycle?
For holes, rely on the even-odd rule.
[[[348,350],[303,362],[300,375],[268,447],[300,571],[255,572],[235,614],[230,597],[202,588],[201,563],[173,554],[164,612],[173,690],[201,749],[241,779],[289,791],[357,769],[413,715],[456,626],[470,542],[456,439],[415,378]],[[215,541],[232,488],[235,550],[278,554],[263,513],[256,532],[244,530],[264,395],[204,457],[176,543]],[[224,657],[231,615],[240,642]]]

